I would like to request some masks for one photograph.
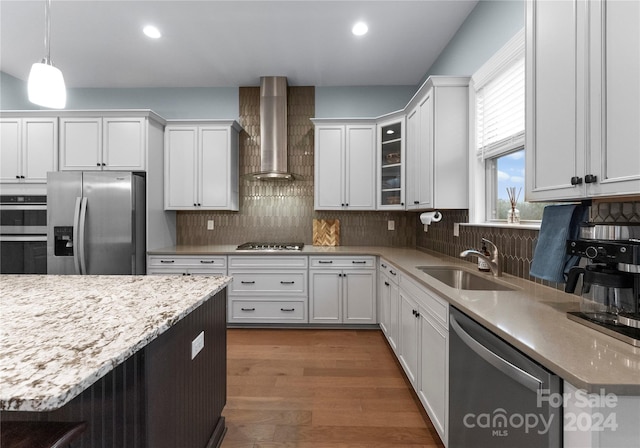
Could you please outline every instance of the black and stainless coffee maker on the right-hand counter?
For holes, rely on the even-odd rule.
[[[586,258],[569,271],[565,292],[582,278],[580,311],[567,317],[640,347],[640,224],[583,223],[569,255]]]

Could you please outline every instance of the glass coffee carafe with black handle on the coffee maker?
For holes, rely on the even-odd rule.
[[[635,311],[635,277],[607,265],[593,264],[569,271],[565,292],[574,292],[582,276],[580,312],[588,318],[617,324],[618,315]]]

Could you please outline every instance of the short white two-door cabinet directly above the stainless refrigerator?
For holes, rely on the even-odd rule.
[[[60,118],[60,169],[145,171],[147,119]]]

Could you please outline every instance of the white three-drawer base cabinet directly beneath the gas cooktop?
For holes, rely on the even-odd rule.
[[[229,256],[229,323],[307,323],[306,256]]]

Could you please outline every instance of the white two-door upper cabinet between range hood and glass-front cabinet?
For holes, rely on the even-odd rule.
[[[315,209],[375,210],[375,122],[314,123]]]

